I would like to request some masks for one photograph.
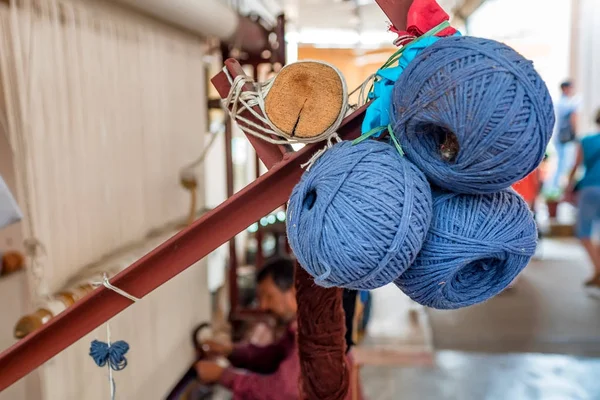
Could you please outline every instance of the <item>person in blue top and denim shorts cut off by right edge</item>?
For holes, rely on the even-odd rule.
[[[586,288],[600,294],[600,244],[594,241],[594,228],[600,224],[600,109],[596,112],[599,130],[579,142],[575,165],[569,175],[566,200],[577,204],[577,237],[585,247],[594,272],[585,282]],[[579,167],[585,172],[576,182]]]

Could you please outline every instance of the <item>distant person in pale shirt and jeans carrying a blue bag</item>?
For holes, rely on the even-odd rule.
[[[577,108],[575,88],[571,81],[560,85],[561,96],[555,104],[556,124],[554,126],[553,144],[556,149],[556,170],[547,187],[548,193],[560,193],[564,188],[563,179],[573,163],[577,138]]]

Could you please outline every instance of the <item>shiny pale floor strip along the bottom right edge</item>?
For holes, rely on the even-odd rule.
[[[600,360],[441,351],[436,366],[364,367],[369,400],[598,400]]]

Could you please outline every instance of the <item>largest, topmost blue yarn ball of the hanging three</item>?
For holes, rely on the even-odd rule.
[[[400,75],[392,126],[406,156],[433,183],[492,193],[539,165],[554,111],[546,84],[516,51],[493,40],[447,37]],[[440,148],[453,135],[458,152],[449,159]]]

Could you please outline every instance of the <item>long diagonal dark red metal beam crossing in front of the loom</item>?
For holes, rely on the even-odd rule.
[[[229,62],[229,65],[235,67],[235,63]],[[221,93],[226,92],[229,85],[223,75],[221,73],[218,79],[213,80],[227,82],[227,86],[219,84]],[[360,134],[363,113],[364,107],[344,120],[339,129],[342,138],[352,139]],[[141,298],[174,278],[257,219],[284,204],[303,173],[300,165],[321,146],[308,145],[298,152],[284,157],[280,155],[282,162],[271,164],[267,173],[116,275],[111,283]],[[131,301],[109,289],[96,289],[0,355],[0,391],[130,305]]]

